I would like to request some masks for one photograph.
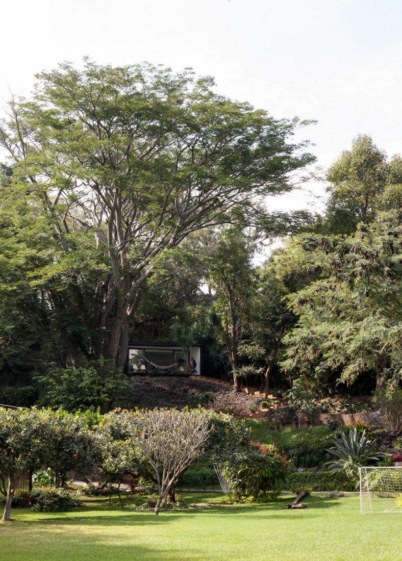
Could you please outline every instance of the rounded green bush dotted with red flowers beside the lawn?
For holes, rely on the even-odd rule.
[[[236,501],[262,502],[276,499],[286,480],[289,462],[275,444],[250,442],[245,452],[234,454],[223,475],[231,481]]]

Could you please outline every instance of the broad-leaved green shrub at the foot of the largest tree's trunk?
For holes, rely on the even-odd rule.
[[[55,368],[36,376],[43,387],[43,402],[67,411],[107,411],[128,387],[127,376],[117,369],[107,370],[103,361],[89,362],[87,367]]]

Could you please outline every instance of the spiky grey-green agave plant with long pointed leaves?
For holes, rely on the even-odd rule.
[[[375,440],[369,440],[366,430],[362,436],[358,435],[357,429],[350,429],[349,438],[341,432],[341,439],[333,440],[334,446],[327,449],[327,452],[335,456],[336,459],[326,463],[332,472],[346,471],[348,475],[354,475],[358,468],[368,463],[378,462],[384,454],[382,452],[373,453]]]

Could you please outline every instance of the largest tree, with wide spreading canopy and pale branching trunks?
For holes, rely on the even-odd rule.
[[[0,126],[15,163],[3,195],[37,214],[53,244],[29,283],[72,362],[122,366],[141,289],[168,252],[290,190],[313,158],[291,142],[298,119],[217,95],[190,71],[85,60],[37,79]]]

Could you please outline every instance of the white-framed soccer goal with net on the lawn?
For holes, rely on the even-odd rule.
[[[360,513],[402,513],[402,467],[360,467]]]

